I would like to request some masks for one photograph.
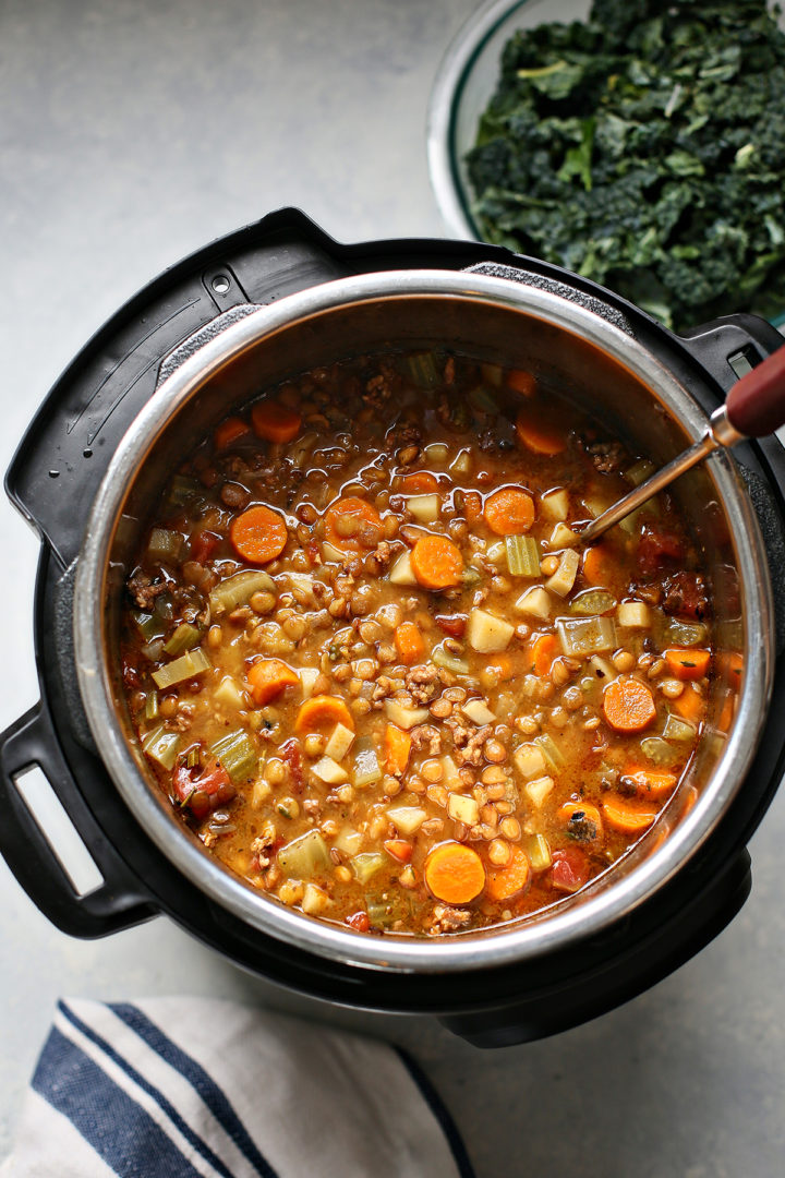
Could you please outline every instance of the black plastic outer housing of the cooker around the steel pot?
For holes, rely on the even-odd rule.
[[[160,359],[184,333],[244,302],[270,302],[347,273],[424,266],[459,270],[488,263],[567,285],[574,297],[608,307],[701,402],[716,390],[716,401],[703,404],[707,411],[734,379],[729,357],[743,353],[754,363],[781,343],[773,327],[749,316],[706,325],[680,339],[624,300],[532,259],[477,243],[338,246],[291,211],[215,243],[157,279],[64,373],[7,478],[8,494],[44,542],[35,611],[42,702],[0,737],[0,796],[8,815],[0,827],[0,849],[36,905],[64,931],[105,935],[157,912],[167,913],[237,964],[282,986],[362,1008],[434,1013],[458,1034],[494,1046],[554,1033],[627,1000],[700,949],[746,899],[750,861],[744,847],[785,767],[779,716],[785,697],[783,641],[778,641],[772,714],[747,787],[700,855],[654,900],[581,946],[580,954],[553,953],[525,972],[505,967],[459,975],[448,987],[448,999],[439,975],[385,975],[328,962],[266,938],[218,909],[153,846],[95,754],[74,686],[73,562],[87,508],[118,438],[154,391]],[[220,296],[213,286],[218,274],[229,279]],[[160,324],[152,335],[151,322]],[[770,562],[781,568],[781,446],[773,439],[746,444],[737,457],[749,472]],[[41,479],[42,469],[53,472],[48,479]],[[778,638],[785,640],[781,595],[778,585]],[[44,768],[98,862],[104,885],[88,895],[75,895],[19,796],[14,777],[32,765]]]

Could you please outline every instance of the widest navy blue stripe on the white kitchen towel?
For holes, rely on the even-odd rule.
[[[199,1178],[149,1114],[56,1027],[32,1086],[120,1178]]]

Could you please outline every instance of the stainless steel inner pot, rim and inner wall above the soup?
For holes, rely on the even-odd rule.
[[[252,311],[160,385],[120,442],[95,497],[74,604],[79,688],[99,753],[138,822],[185,880],[248,926],[301,949],[401,972],[532,960],[603,932],[653,896],[711,835],[743,787],[766,717],[773,666],[771,584],[758,522],[733,461],[716,455],[680,481],[677,495],[712,574],[718,641],[738,641],[747,653],[736,716],[727,734],[712,728],[723,691],[730,690],[718,681],[706,735],[677,794],[638,846],[599,880],[514,925],[434,939],[379,937],[292,911],[206,852],[161,795],[118,686],[118,618],[139,534],[189,446],[266,385],[340,357],[433,343],[532,368],[656,462],[699,437],[706,423],[656,355],[558,293],[426,270],[327,283]]]

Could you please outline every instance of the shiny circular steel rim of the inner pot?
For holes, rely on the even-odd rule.
[[[663,887],[696,854],[726,812],[754,755],[765,723],[773,677],[773,604],[763,537],[751,501],[743,491],[732,459],[716,454],[709,462],[731,524],[743,578],[745,667],[736,723],[709,785],[656,853],[608,882],[596,895],[564,912],[486,933],[448,938],[377,937],[331,925],[287,908],[254,892],[182,832],[154,796],[118,722],[104,650],[108,556],[127,490],[149,449],[171,419],[212,376],[266,337],[330,315],[350,304],[394,302],[418,297],[468,299],[520,311],[594,344],[657,390],[691,439],[706,426],[706,415],[650,351],[619,327],[585,306],[537,287],[483,274],[407,270],[340,278],[287,296],[247,315],[178,368],[157,390],[122,437],[89,512],[74,593],[76,677],[87,720],[100,756],[135,820],[164,855],[211,900],[277,940],[346,965],[394,972],[440,973],[499,967],[531,961],[564,949],[627,915]]]

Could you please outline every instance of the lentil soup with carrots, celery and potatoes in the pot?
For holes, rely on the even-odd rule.
[[[224,419],[127,581],[122,683],[172,806],[253,887],[364,932],[580,891],[706,713],[706,576],[670,497],[577,534],[648,469],[530,372],[446,349]]]

